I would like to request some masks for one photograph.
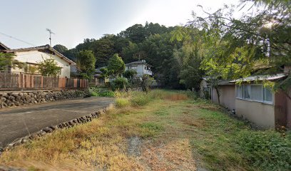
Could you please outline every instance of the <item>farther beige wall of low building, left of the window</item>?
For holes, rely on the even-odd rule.
[[[235,86],[220,86],[220,105],[227,107],[230,110],[235,109]],[[213,88],[212,90],[212,101],[214,103],[218,103],[218,95],[216,90]]]

